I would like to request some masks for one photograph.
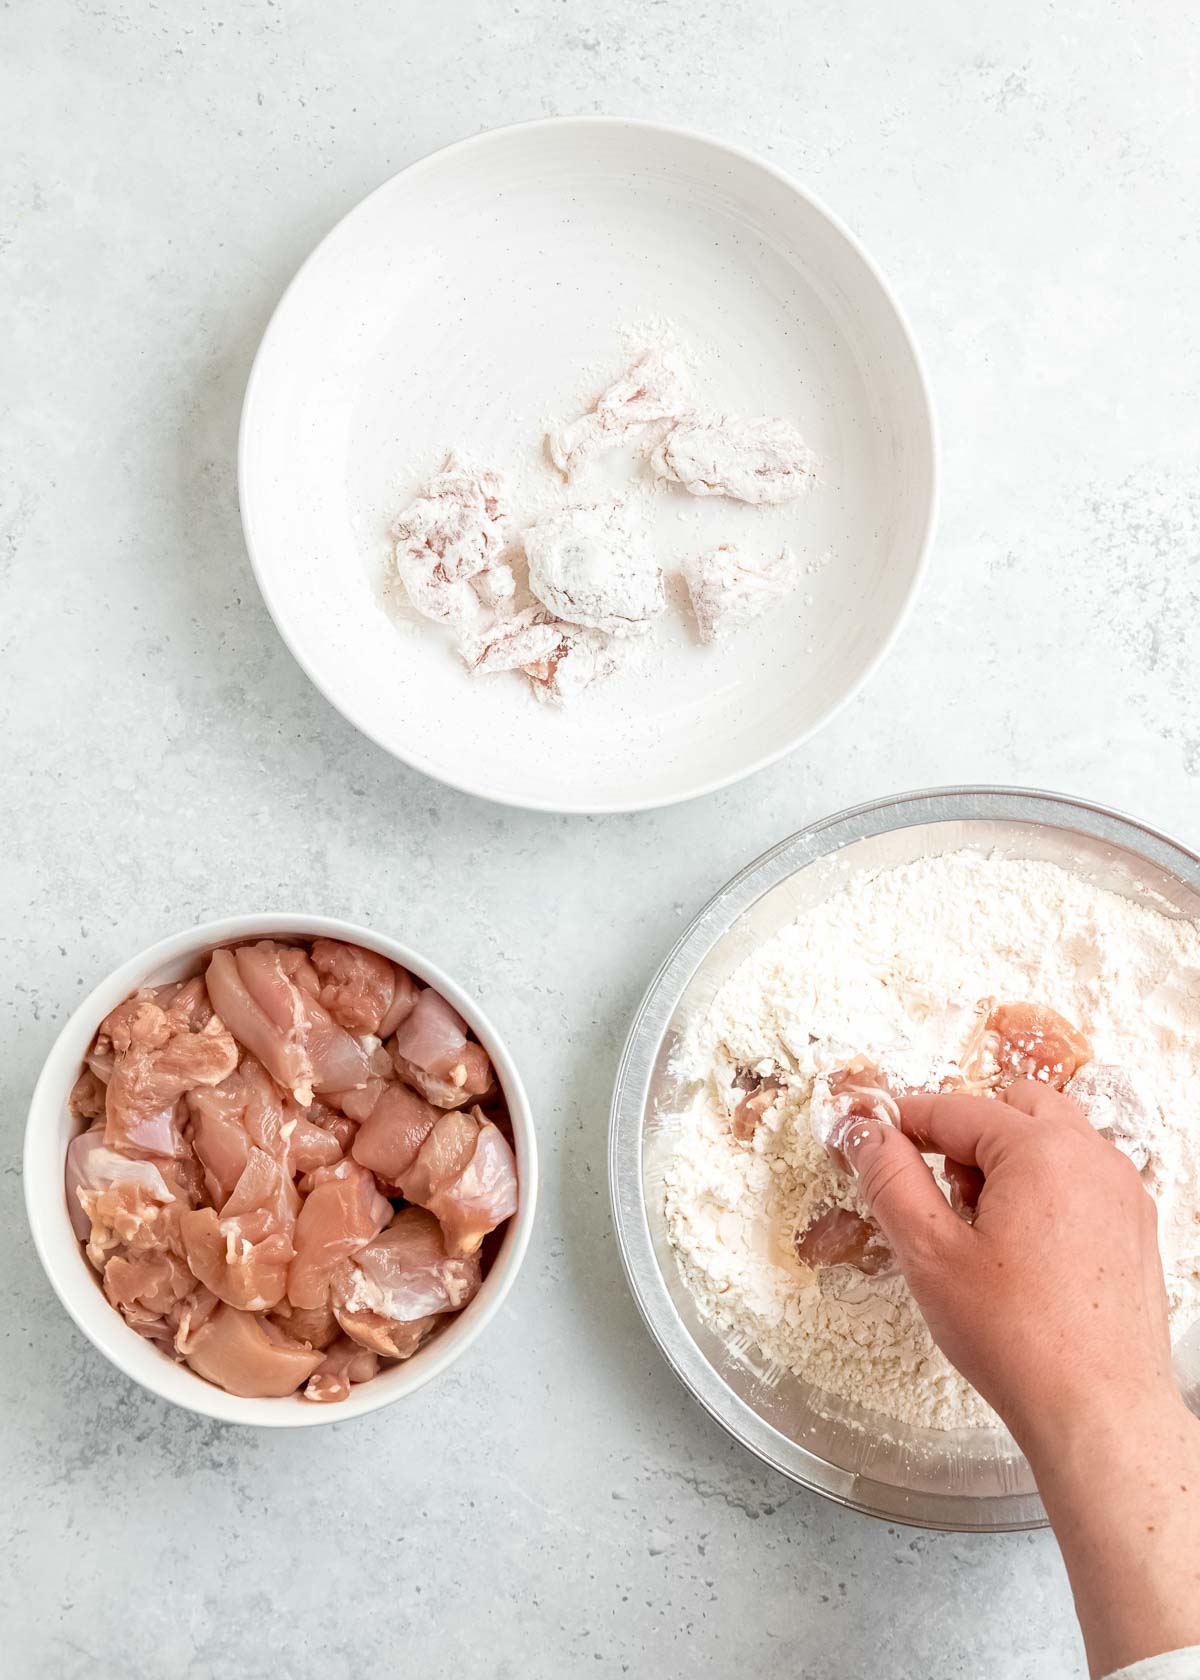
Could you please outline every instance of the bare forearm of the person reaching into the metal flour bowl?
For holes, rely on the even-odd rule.
[[[1039,1420],[1018,1438],[1092,1675],[1200,1645],[1200,1421],[1178,1394]]]

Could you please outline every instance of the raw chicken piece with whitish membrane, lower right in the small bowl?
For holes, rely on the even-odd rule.
[[[479,1260],[452,1255],[432,1213],[403,1208],[382,1236],[338,1268],[333,1310],[363,1347],[407,1359],[432,1324],[464,1307],[479,1284]]]

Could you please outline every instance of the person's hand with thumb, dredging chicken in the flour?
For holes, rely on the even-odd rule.
[[[934,1341],[1017,1440],[1176,1396],[1155,1203],[1121,1151],[1034,1080],[899,1107],[903,1129],[855,1121],[842,1151]],[[982,1173],[973,1225],[921,1151]]]

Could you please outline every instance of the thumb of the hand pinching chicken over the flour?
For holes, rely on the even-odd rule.
[[[961,1242],[966,1225],[951,1211],[924,1156],[904,1132],[877,1121],[855,1121],[842,1139],[842,1152],[904,1272],[928,1260],[931,1250],[945,1253]]]

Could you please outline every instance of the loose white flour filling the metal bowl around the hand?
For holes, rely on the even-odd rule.
[[[904,1425],[995,1415],[933,1346],[903,1278],[817,1275],[793,1248],[825,1201],[861,1206],[813,1141],[813,1077],[864,1053],[919,1084],[953,1062],[978,1003],[1039,1001],[1091,1038],[1081,1095],[1160,1211],[1173,1334],[1200,1317],[1200,926],[1057,865],[958,852],[855,879],[726,981],[689,1045],[704,1079],[679,1117],[666,1215],[706,1319],[808,1383]],[[738,1068],[783,1068],[753,1144],[729,1131]],[[1126,1100],[1134,1094],[1136,1100]]]

